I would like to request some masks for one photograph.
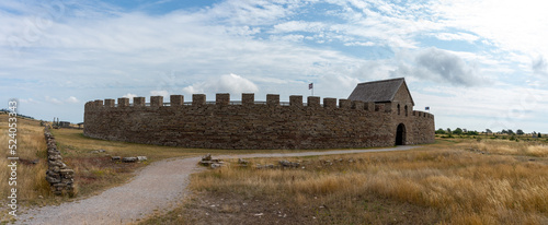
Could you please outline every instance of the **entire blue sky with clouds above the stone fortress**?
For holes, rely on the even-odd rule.
[[[2,0],[0,108],[83,121],[85,102],[241,93],[346,98],[404,78],[437,128],[548,132],[543,1]]]

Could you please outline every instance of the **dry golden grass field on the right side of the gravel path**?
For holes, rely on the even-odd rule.
[[[546,141],[438,140],[409,152],[236,162],[144,224],[548,224]]]

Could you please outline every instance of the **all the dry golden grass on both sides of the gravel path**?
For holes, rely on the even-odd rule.
[[[7,118],[0,115],[4,145]],[[78,198],[124,183],[133,171],[155,161],[272,152],[102,141],[76,129],[53,133],[65,163],[76,170]],[[50,194],[45,150],[39,121],[18,119],[20,205],[71,201]],[[114,163],[112,155],[145,155],[149,161]],[[7,156],[3,151],[2,165],[8,164]],[[31,163],[36,159],[37,164]],[[255,168],[277,165],[279,159],[300,166]],[[0,167],[0,179],[8,178],[8,168]],[[439,139],[407,152],[255,158],[248,167],[231,161],[221,169],[193,175],[190,188],[196,193],[193,198],[142,224],[548,224],[548,141]],[[9,190],[8,182],[0,182],[1,196]]]

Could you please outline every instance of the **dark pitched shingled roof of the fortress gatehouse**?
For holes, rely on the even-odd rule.
[[[349,99],[362,100],[365,103],[392,102],[396,93],[402,85],[409,93],[406,79],[403,78],[359,83],[352,94],[350,94]],[[411,97],[411,93],[409,93],[409,96]],[[411,97],[411,103],[414,105],[413,97]]]

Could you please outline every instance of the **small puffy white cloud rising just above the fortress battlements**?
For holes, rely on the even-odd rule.
[[[259,87],[250,80],[230,73],[185,86],[182,91],[189,95],[230,93],[233,96],[239,96],[241,93],[258,92]]]

